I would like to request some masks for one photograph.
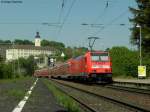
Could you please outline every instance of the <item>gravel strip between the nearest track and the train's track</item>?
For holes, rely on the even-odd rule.
[[[149,95],[135,94],[132,92],[118,91],[118,90],[113,90],[113,89],[99,87],[99,86],[90,86],[90,85],[84,85],[84,84],[67,82],[67,81],[60,81],[60,82],[84,89],[86,91],[90,91],[90,92],[92,91],[93,93],[106,96],[112,99],[134,104],[139,107],[144,107],[150,110],[150,96]]]

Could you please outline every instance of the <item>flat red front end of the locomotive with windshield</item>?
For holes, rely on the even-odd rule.
[[[112,63],[108,52],[89,54],[89,76],[100,82],[112,82]]]

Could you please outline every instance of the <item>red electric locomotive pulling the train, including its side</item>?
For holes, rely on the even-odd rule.
[[[68,73],[70,78],[79,80],[111,82],[112,63],[108,52],[87,52],[68,61]]]

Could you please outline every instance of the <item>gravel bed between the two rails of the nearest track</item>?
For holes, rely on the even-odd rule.
[[[121,107],[120,105],[116,105],[104,99],[100,99],[99,97],[89,95],[85,92],[81,92],[70,87],[60,85],[58,83],[55,83],[55,85],[57,85],[59,88],[69,93],[70,95],[74,96],[75,98],[78,98],[81,102],[84,102],[90,107],[96,109],[98,112],[134,112],[123,106]]]

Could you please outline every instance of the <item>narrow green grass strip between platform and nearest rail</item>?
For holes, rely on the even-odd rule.
[[[44,83],[48,89],[52,92],[56,100],[60,105],[65,107],[69,112],[82,112],[79,104],[65,93],[61,92],[55,85],[48,80],[44,80]]]

